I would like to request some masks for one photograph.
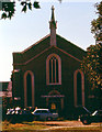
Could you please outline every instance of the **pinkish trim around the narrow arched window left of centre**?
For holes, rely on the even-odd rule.
[[[31,75],[32,79],[32,107],[34,108],[34,75],[31,70],[24,73],[24,107],[27,107],[27,94],[26,94],[26,76]]]

